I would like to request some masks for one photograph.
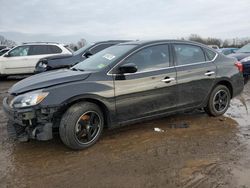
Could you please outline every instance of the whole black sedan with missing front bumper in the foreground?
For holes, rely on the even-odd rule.
[[[104,127],[203,107],[220,116],[243,87],[240,63],[205,45],[134,41],[18,82],[3,108],[19,140],[49,140],[58,130],[66,146],[84,149]]]

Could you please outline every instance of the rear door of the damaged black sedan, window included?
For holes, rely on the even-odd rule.
[[[200,46],[184,43],[173,44],[173,52],[177,71],[179,107],[184,109],[201,105],[215,81],[216,65],[213,59],[216,54],[212,51],[210,51],[211,54],[207,54]]]

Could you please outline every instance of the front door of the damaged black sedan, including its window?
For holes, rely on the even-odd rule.
[[[169,49],[168,44],[145,47],[119,64],[133,63],[138,68],[136,73],[113,75],[120,122],[175,109],[176,71]]]

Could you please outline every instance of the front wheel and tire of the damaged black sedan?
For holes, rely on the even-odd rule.
[[[101,109],[94,103],[80,102],[72,105],[64,113],[60,122],[59,134],[67,147],[81,150],[97,142],[103,127],[104,117]]]

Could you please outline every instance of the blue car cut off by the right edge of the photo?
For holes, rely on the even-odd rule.
[[[234,57],[242,63],[243,76],[247,83],[250,77],[250,43],[237,50],[236,53],[230,54],[229,57]]]

